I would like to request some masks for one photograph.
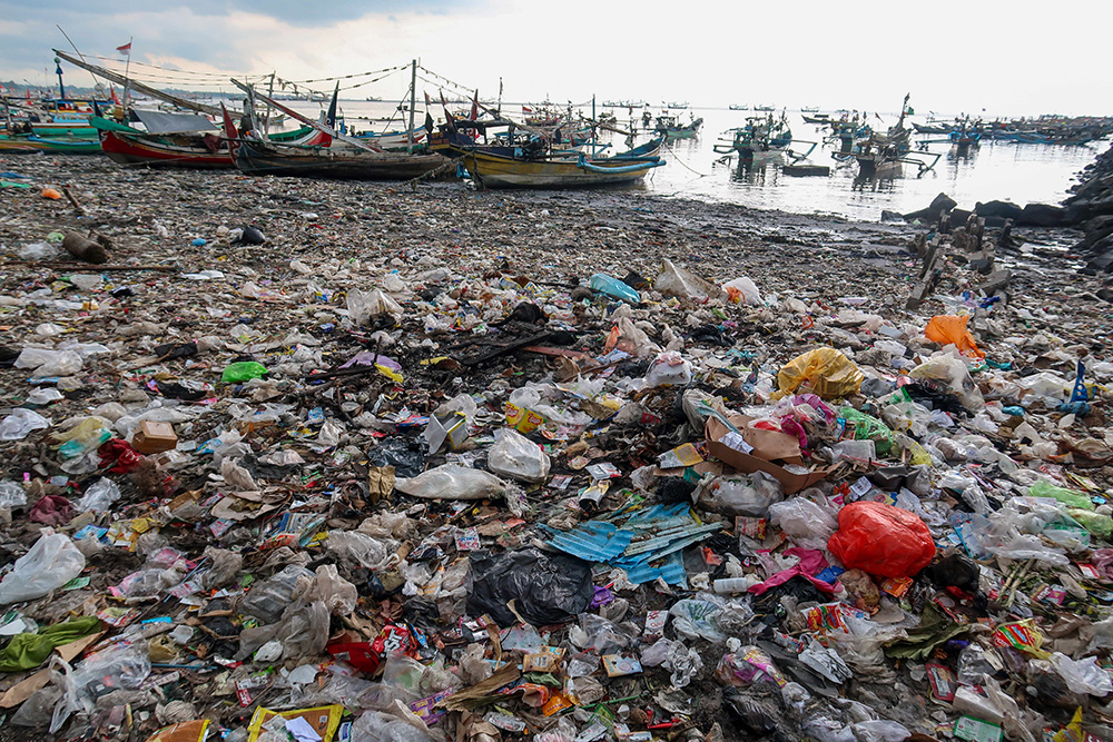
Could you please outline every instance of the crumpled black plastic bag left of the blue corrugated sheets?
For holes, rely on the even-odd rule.
[[[545,554],[535,548],[471,554],[467,614],[489,614],[500,626],[518,623],[506,606],[534,626],[571,621],[588,610],[594,591],[591,563],[569,554]]]

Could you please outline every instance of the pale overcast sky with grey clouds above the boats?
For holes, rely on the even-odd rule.
[[[417,57],[491,99],[502,77],[508,100],[894,111],[912,92],[920,113],[1113,115],[1111,20],[1107,0],[0,0],[0,80],[43,83],[51,47],[70,48],[59,23],[86,55],[114,57],[135,37],[132,62],[210,73],[305,80]],[[397,98],[407,85],[395,75],[348,97]]]

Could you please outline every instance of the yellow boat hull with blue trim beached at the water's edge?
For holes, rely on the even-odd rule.
[[[653,139],[612,157],[583,151],[555,150],[538,159],[470,151],[462,165],[484,188],[583,188],[640,180],[666,160],[657,154],[662,139]]]

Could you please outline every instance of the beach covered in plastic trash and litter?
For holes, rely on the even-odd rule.
[[[0,164],[0,739],[1113,739],[1074,233]]]

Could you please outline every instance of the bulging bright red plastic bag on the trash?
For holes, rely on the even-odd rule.
[[[932,532],[915,513],[884,503],[851,503],[839,511],[827,548],[847,570],[910,577],[932,563]]]

